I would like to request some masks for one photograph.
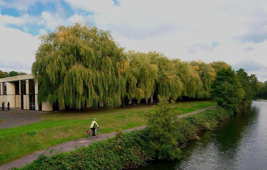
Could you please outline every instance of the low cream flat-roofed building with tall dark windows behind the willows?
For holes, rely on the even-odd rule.
[[[42,105],[37,102],[38,96],[38,83],[34,82],[32,74],[0,78],[0,103],[10,103],[10,108],[20,108],[24,110],[36,110],[36,111],[55,111],[64,110],[60,108],[58,104],[51,104],[50,102],[43,103]],[[153,97],[146,99],[130,99],[130,103],[140,104],[153,102]],[[126,99],[124,100],[126,101]],[[124,103],[125,105],[125,103]],[[87,102],[87,108],[90,107]],[[98,103],[98,107],[104,107],[103,102]]]

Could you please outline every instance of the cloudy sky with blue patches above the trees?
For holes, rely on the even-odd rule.
[[[225,61],[267,81],[266,0],[0,0],[0,70],[31,73],[38,37],[76,22],[126,50]]]

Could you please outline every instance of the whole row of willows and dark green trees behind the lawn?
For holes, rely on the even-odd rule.
[[[255,75],[247,76],[244,69],[235,73],[225,62],[184,62],[155,51],[125,52],[110,31],[87,24],[61,25],[40,36],[40,40],[32,73],[39,82],[41,103],[58,102],[62,107],[83,108],[88,102],[96,107],[101,101],[113,108],[124,97],[142,99],[158,95],[168,100],[214,97],[220,101],[222,96],[214,90],[219,85],[234,86],[233,93],[241,95],[236,96],[238,102],[245,102],[256,95],[258,88],[251,89],[254,81],[258,85]],[[224,84],[220,84],[217,73],[225,76]],[[228,82],[227,74],[233,80]],[[214,78],[217,84],[212,86]],[[224,102],[228,101],[220,103]]]

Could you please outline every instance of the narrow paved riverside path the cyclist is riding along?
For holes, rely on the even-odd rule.
[[[210,109],[210,108],[214,108],[216,106],[212,106],[212,107],[208,107],[208,108],[204,108],[204,109],[201,109],[201,110],[197,110],[197,111],[194,111],[194,112],[191,112],[191,113],[187,113],[187,114],[183,114],[183,115],[180,115],[178,116],[178,118],[182,118],[182,117],[185,117],[185,116],[189,116],[189,115],[193,115],[193,114],[196,114],[196,113],[199,113],[199,112],[202,112],[204,110],[207,110],[207,109]],[[128,129],[128,130],[125,130],[125,132],[131,132],[131,131],[134,131],[134,130],[140,130],[140,129],[144,129],[146,127],[146,125],[144,126],[139,126],[139,127],[135,127],[135,128],[132,128],[132,129]],[[111,138],[111,137],[115,137],[115,132],[110,132],[110,133],[106,133],[106,134],[102,134],[101,137],[99,138],[93,138],[93,139],[90,139],[88,140],[87,138],[80,138],[80,139],[76,139],[76,140],[72,140],[72,141],[69,141],[69,142],[65,142],[65,143],[61,143],[59,145],[55,145],[53,147],[50,147],[48,148],[49,150],[59,150],[62,148],[62,152],[66,152],[66,151],[71,151],[71,150],[75,150],[75,146],[88,146],[88,145],[91,145],[93,142],[96,142],[96,141],[101,141],[101,140],[105,140],[105,139],[108,139],[108,138]],[[86,143],[79,143],[79,142],[86,142]],[[0,170],[7,170],[7,169],[10,169],[12,167],[21,167],[23,165],[26,165],[26,164],[29,164],[31,162],[33,162],[38,155],[40,155],[41,153],[43,153],[44,150],[41,150],[41,151],[38,151],[36,153],[32,153],[30,155],[27,155],[23,158],[20,158],[18,159],[17,161],[13,161],[13,162],[9,162],[7,164],[4,164],[2,166],[0,166]],[[46,155],[49,155],[49,153],[45,153]]]

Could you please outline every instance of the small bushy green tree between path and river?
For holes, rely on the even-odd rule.
[[[147,129],[151,138],[151,147],[159,159],[174,160],[180,158],[181,150],[177,140],[177,112],[169,102],[160,99],[154,106],[155,112],[146,113]]]

